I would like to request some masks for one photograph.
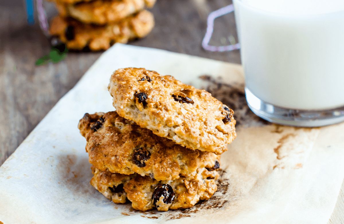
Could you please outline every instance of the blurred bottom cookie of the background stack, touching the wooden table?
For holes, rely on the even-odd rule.
[[[57,36],[68,49],[92,51],[108,49],[113,43],[127,43],[129,40],[144,37],[153,29],[152,13],[143,10],[118,23],[97,26],[82,24],[73,19],[56,16],[50,26],[50,34]]]

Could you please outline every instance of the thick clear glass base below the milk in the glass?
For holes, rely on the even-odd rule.
[[[260,100],[245,88],[249,108],[269,122],[299,127],[319,127],[344,121],[344,107],[331,110],[293,110]]]

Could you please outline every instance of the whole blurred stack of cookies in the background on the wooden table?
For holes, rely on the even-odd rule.
[[[156,0],[51,0],[60,13],[50,34],[77,51],[100,51],[147,36],[154,17],[145,8]]]

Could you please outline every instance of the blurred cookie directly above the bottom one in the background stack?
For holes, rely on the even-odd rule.
[[[78,4],[56,2],[60,15],[72,17],[83,23],[105,25],[118,22],[131,14],[152,7],[155,0],[95,0]]]

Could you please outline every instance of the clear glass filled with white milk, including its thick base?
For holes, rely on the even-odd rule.
[[[234,0],[246,99],[274,123],[344,121],[344,0]]]

